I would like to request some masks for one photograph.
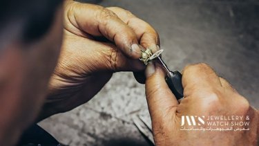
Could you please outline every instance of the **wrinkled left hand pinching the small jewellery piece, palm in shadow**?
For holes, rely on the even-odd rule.
[[[156,51],[159,37],[131,12],[66,1],[64,42],[39,119],[87,102],[114,72],[143,71],[140,45]]]

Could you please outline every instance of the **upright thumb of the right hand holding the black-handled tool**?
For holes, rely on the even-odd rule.
[[[155,71],[155,72],[154,72]],[[148,62],[146,67],[146,100],[151,119],[161,119],[169,111],[175,113],[178,100],[167,86],[164,71],[157,64]]]

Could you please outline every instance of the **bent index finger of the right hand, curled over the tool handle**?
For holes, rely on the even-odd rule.
[[[184,97],[193,91],[211,91],[221,86],[218,75],[207,64],[193,64],[186,66],[182,71],[182,85]]]

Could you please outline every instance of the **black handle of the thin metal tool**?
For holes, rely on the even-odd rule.
[[[184,89],[182,87],[182,74],[179,71],[171,72],[171,75],[166,76],[166,83],[175,95],[177,100],[184,97]]]

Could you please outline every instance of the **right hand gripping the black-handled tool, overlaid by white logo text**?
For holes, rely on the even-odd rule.
[[[180,104],[164,81],[165,74],[159,64],[148,64],[146,76],[146,99],[156,145],[257,144],[258,111],[249,107],[247,100],[207,64],[186,66],[182,72],[184,99]],[[243,116],[238,121],[244,121],[249,116],[248,127],[233,126],[233,129],[249,128],[249,131],[184,131],[180,130],[182,116]],[[207,120],[203,120],[206,123]],[[191,127],[187,123],[184,126],[187,129]],[[206,124],[202,126],[209,128]]]

